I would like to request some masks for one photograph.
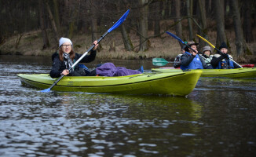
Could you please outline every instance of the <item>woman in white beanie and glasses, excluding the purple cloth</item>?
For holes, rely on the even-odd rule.
[[[97,41],[94,41],[95,45],[90,51],[90,55],[86,55],[82,58],[80,63],[89,63],[93,61],[96,57]],[[79,64],[76,64],[74,68],[68,71],[68,68],[75,63],[76,60],[82,57],[82,54],[75,53],[73,49],[73,43],[69,38],[60,38],[59,40],[59,49],[56,53],[53,53],[52,60],[53,65],[52,69],[49,72],[49,75],[52,78],[58,78],[61,75],[68,76],[84,76],[84,75],[94,75],[93,72],[85,71],[84,68],[80,68]]]

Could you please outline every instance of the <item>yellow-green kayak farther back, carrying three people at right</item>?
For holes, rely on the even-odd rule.
[[[152,71],[164,73],[178,72],[181,69],[153,68]],[[226,78],[256,78],[256,68],[236,68],[236,69],[199,69],[191,71],[203,71],[201,77],[226,77]]]

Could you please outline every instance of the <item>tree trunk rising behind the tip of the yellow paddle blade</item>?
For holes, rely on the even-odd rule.
[[[207,15],[206,15],[206,10],[205,10],[205,1],[199,0],[198,4],[199,4],[199,15],[200,15],[199,21],[200,21],[201,27],[202,27],[202,30],[200,30],[199,32],[202,33],[201,35],[203,35],[203,38],[208,39],[208,37],[207,37]],[[207,46],[206,42],[202,42],[202,43],[203,43],[203,45],[200,44],[201,47]]]

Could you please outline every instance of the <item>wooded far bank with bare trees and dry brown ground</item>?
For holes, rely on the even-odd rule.
[[[0,0],[0,54],[50,56],[60,37],[84,53],[130,9],[97,58],[174,60],[181,45],[170,31],[199,42],[199,50],[207,43],[196,35],[216,48],[226,42],[235,60],[254,64],[255,6],[255,0]]]

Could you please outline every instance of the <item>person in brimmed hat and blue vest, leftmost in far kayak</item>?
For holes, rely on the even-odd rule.
[[[188,42],[188,46],[190,46],[196,52],[194,52],[192,49],[186,47],[186,49],[185,49],[186,52],[181,56],[181,69],[182,70],[212,68],[211,66],[207,66],[207,64],[203,60],[203,57],[201,57],[198,54],[197,45],[198,45],[198,43],[195,43],[193,41]]]

